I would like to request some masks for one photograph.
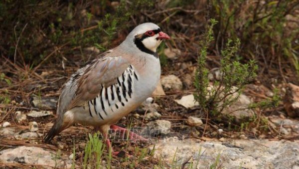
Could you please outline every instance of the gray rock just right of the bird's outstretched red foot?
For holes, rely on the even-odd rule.
[[[167,135],[170,133],[171,123],[167,120],[155,120],[149,122],[142,130],[141,135],[147,137],[155,137],[158,135]]]

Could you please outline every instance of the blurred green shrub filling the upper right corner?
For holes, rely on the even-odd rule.
[[[265,71],[271,68],[284,73],[288,61],[299,75],[299,24],[296,0],[211,0],[211,17],[216,25],[216,50],[225,47],[228,38],[240,38],[242,60],[255,59]],[[297,6],[297,7],[296,7]],[[271,61],[270,61],[271,60]],[[264,65],[265,63],[265,65]],[[265,72],[267,73],[267,72]]]

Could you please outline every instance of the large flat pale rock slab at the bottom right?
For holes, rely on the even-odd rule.
[[[151,149],[153,146],[151,146]],[[181,167],[187,159],[193,169],[206,169],[216,162],[221,169],[292,169],[299,167],[299,141],[232,140],[201,142],[167,138],[155,144],[154,157],[171,168]]]

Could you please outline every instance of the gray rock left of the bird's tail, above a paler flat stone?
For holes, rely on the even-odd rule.
[[[32,103],[34,107],[39,109],[55,109],[57,103],[56,97],[33,97]]]

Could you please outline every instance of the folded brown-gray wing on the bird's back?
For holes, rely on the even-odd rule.
[[[128,66],[129,62],[120,56],[96,59],[79,69],[61,91],[57,114],[63,115],[67,110],[97,97],[103,86],[117,83],[117,77]]]

